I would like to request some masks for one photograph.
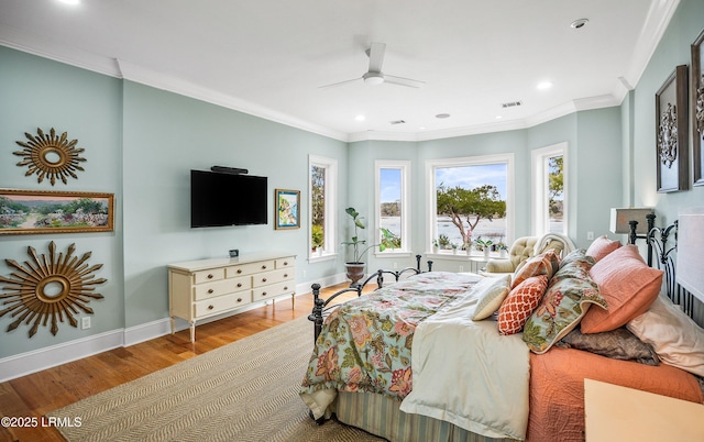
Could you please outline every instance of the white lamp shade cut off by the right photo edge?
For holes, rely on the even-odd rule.
[[[678,217],[678,283],[704,301],[704,208],[681,209]]]

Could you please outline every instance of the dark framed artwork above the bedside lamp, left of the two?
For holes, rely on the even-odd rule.
[[[656,93],[656,157],[658,191],[689,187],[688,67],[678,66]]]

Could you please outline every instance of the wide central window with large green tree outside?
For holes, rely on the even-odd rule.
[[[477,240],[510,244],[514,226],[514,155],[426,163],[428,246],[439,253],[472,252]]]

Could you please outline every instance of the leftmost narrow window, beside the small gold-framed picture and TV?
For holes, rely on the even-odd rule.
[[[309,241],[310,257],[332,255],[336,247],[334,196],[338,180],[338,162],[310,155],[309,183]]]

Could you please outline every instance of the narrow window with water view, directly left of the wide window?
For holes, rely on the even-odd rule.
[[[384,254],[410,251],[410,162],[376,161],[376,225]]]

